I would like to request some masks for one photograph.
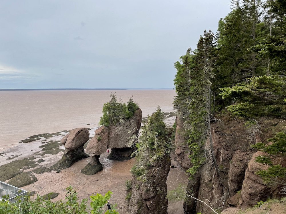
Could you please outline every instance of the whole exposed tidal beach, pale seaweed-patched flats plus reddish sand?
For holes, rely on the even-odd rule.
[[[143,120],[144,119],[146,118],[143,118]],[[172,126],[174,121],[174,112],[167,112],[164,114],[166,126]],[[90,139],[94,136],[94,131],[97,128],[98,127],[94,127],[89,130]],[[84,175],[80,172],[81,169],[87,165],[90,157],[77,161],[71,167],[63,169],[59,173],[56,173],[55,171],[43,171],[43,168],[47,169],[61,159],[64,152],[64,146],[59,141],[67,133],[68,132],[65,131],[31,136],[40,139],[29,143],[18,144],[17,146],[6,149],[4,153],[0,152],[0,172],[1,170],[8,170],[8,174],[14,173],[15,176],[15,173],[19,174],[20,170],[21,173],[16,175],[16,182],[18,183],[25,183],[24,178],[21,177],[24,176],[25,173],[33,175],[34,180],[32,179],[30,183],[25,183],[21,188],[32,192],[34,195],[39,194],[40,196],[51,192],[58,193],[57,197],[52,199],[54,201],[65,199],[65,188],[69,185],[72,185],[72,187],[76,189],[80,200],[89,198],[90,195],[95,193],[105,194],[110,190],[114,193],[111,201],[112,203],[118,204],[118,211],[120,211],[125,201],[125,182],[132,178],[130,169],[134,164],[135,159],[132,158],[125,162],[112,161],[107,158],[108,154],[105,152],[100,156],[103,170],[94,175]],[[43,138],[43,136],[48,136],[49,138]],[[86,148],[88,142],[85,144],[84,148]],[[171,168],[168,174],[168,191],[173,190],[180,184],[186,187],[188,182],[188,176],[185,171],[179,167],[174,159],[175,156],[173,154],[171,160],[172,165],[175,167]],[[27,162],[27,164],[24,162]],[[15,170],[15,168],[17,170]],[[36,171],[42,172],[38,174]],[[5,175],[2,174],[2,180],[3,177],[4,182],[11,182],[11,180],[13,180],[13,178],[5,180]],[[88,200],[88,203],[89,202],[90,199]],[[170,201],[168,213],[183,214],[182,204],[183,201]]]

